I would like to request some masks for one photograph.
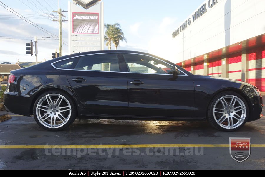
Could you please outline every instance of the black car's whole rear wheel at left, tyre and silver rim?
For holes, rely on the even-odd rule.
[[[72,99],[62,91],[48,91],[35,101],[34,119],[45,130],[59,131],[68,127],[76,118]]]

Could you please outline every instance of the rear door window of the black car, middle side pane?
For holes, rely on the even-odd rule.
[[[96,54],[80,57],[74,69],[90,71],[120,71],[117,54]]]

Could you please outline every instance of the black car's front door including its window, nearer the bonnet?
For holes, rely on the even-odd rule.
[[[140,54],[123,54],[129,72],[129,114],[137,116],[191,117],[193,80],[182,71],[169,74],[170,64]]]

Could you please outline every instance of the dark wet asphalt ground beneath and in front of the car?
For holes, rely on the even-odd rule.
[[[1,111],[0,115],[4,113]],[[265,108],[262,113],[265,115]],[[251,147],[249,158],[238,163],[230,157],[228,147],[220,147],[229,145],[229,137],[251,138],[252,145],[263,147]],[[112,147],[142,144],[217,147],[178,147],[171,151],[165,147]],[[33,117],[16,115],[0,123],[0,146],[3,145],[75,145],[75,148],[0,148],[0,169],[265,169],[265,117],[246,123],[236,132],[215,130],[206,121],[120,120],[76,120],[65,130],[49,132],[40,128]]]

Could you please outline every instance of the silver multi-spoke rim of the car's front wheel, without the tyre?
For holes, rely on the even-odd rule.
[[[234,129],[246,119],[246,105],[237,96],[222,96],[213,106],[213,117],[219,126]]]

